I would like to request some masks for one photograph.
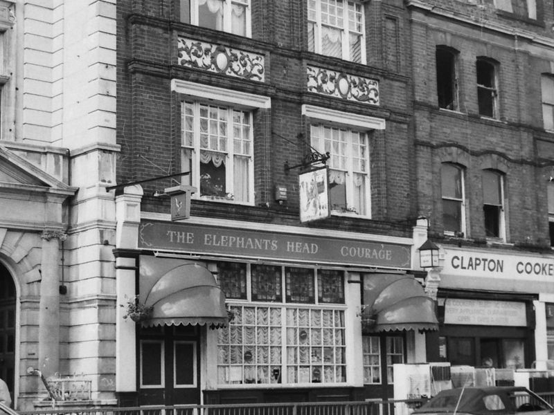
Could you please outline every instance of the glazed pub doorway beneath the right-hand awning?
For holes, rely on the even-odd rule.
[[[362,335],[366,399],[393,399],[393,364],[404,363],[404,336],[390,333]]]

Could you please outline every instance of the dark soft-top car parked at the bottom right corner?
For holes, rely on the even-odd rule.
[[[526,387],[460,387],[445,389],[413,414],[550,414],[553,407]]]

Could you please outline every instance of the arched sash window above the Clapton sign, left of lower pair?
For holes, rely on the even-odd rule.
[[[443,190],[443,227],[445,234],[463,237],[465,232],[465,203],[463,169],[443,163],[440,169]]]

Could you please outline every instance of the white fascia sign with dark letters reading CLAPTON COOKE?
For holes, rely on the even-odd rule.
[[[486,277],[513,277],[548,279],[554,277],[554,257],[495,254],[445,248],[443,273]]]

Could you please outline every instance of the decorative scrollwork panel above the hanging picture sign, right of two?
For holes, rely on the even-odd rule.
[[[379,82],[348,73],[307,66],[308,92],[379,105]]]

